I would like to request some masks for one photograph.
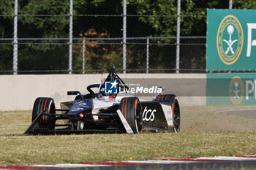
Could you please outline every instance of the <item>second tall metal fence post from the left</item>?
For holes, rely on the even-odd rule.
[[[73,0],[69,0],[69,74],[72,74]]]

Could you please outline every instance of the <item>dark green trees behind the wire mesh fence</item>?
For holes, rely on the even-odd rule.
[[[67,16],[69,0],[19,0],[18,3],[18,14],[26,15],[18,17],[19,38],[67,38],[69,36],[69,16]],[[0,14],[12,15],[13,6],[14,1],[1,0]],[[228,1],[181,0],[181,36],[206,36],[207,8],[227,9]],[[256,1],[233,0],[233,8],[255,9]],[[176,0],[127,0],[127,36],[176,36],[176,12]],[[74,0],[73,13],[74,15],[86,15],[73,17],[74,37],[122,36],[122,1],[120,0]],[[167,17],[163,17],[164,15]],[[102,36],[102,34],[105,35]],[[13,17],[1,16],[0,37],[12,38],[12,36]],[[59,70],[60,73],[67,70],[67,40],[39,41],[31,44],[19,42],[21,43],[18,46],[19,70]],[[59,44],[50,44],[56,42]],[[107,45],[107,42],[86,42],[86,69],[105,69],[111,65],[115,65],[117,69],[122,68],[121,42],[118,42],[120,45]],[[132,45],[131,42],[137,44]],[[145,69],[146,40],[127,40],[127,43],[127,69]],[[150,68],[175,68],[176,45],[174,44],[176,39],[157,39],[151,40],[151,43],[154,45],[150,46]],[[206,43],[206,41],[205,39],[197,41],[181,39],[181,43]],[[73,68],[80,70],[81,42],[75,42],[73,47]],[[205,69],[205,50],[206,47],[202,45],[181,45],[181,69]],[[0,70],[11,70],[12,45],[1,45],[0,56]]]

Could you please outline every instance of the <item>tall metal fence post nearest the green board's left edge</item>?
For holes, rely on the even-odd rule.
[[[177,2],[177,40],[176,40],[176,73],[179,73],[179,44],[180,44],[180,26],[181,26],[181,0]]]

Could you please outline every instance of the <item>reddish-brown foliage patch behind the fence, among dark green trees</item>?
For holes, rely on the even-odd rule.
[[[104,40],[89,40],[88,38],[103,38],[108,37],[108,32],[97,33],[91,29],[80,37],[86,37],[85,41],[85,55],[86,55],[86,70],[107,70],[110,66],[121,68],[122,63],[122,49],[121,45],[109,45]],[[77,44],[74,47],[75,70],[82,70],[82,56],[83,45]],[[80,71],[81,72],[81,71]]]

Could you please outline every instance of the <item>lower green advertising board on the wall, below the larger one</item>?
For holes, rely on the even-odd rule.
[[[256,73],[207,74],[206,105],[255,105]]]

